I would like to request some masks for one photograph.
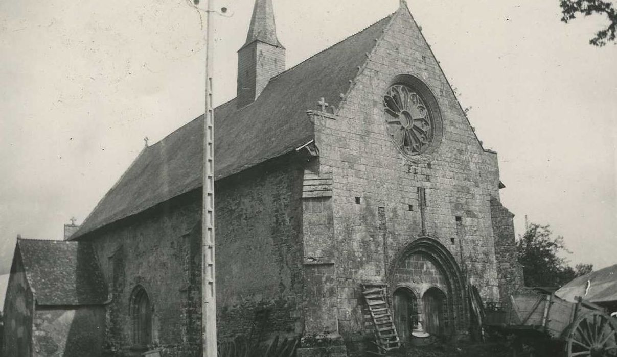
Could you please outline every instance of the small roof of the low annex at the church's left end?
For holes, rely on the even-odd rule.
[[[107,287],[89,242],[17,239],[38,305],[101,305]]]

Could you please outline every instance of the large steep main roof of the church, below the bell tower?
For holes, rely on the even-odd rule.
[[[215,179],[295,150],[314,138],[306,111],[338,106],[390,18],[270,79],[255,102],[215,108]],[[202,186],[203,116],[144,148],[71,239]]]

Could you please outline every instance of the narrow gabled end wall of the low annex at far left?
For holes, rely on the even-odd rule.
[[[9,284],[4,299],[2,356],[30,356],[34,300],[23,270],[19,249],[15,249]]]

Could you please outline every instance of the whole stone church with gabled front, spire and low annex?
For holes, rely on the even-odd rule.
[[[460,339],[470,297],[522,286],[497,154],[405,2],[286,70],[256,0],[237,81],[215,110],[220,340],[261,326],[358,356],[378,303],[402,343]],[[4,356],[201,353],[202,125],[144,148],[67,241],[18,241]]]

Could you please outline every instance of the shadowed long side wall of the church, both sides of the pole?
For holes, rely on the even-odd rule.
[[[217,319],[220,339],[302,331],[302,174],[297,154],[216,182]],[[136,355],[131,293],[152,306],[152,344],[165,356],[201,349],[201,190],[192,191],[81,239],[93,242],[110,286],[108,353]]]

